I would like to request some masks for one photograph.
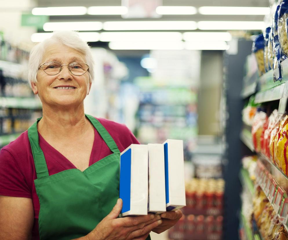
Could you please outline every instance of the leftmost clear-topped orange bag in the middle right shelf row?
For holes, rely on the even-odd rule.
[[[267,115],[265,112],[256,112],[254,120],[253,120],[253,124],[252,124],[252,140],[253,140],[253,144],[254,144],[254,148],[256,152],[260,152],[261,150],[261,145],[260,145],[260,137],[262,135],[263,132],[263,126],[264,123],[267,119]]]

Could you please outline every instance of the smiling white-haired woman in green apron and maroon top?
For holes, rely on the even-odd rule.
[[[182,216],[118,218],[120,152],[139,142],[126,126],[84,113],[93,75],[90,48],[76,32],[32,49],[29,80],[43,117],[1,149],[1,240],[144,240]]]

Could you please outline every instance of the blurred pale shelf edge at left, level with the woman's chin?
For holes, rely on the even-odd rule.
[[[41,109],[41,101],[32,97],[0,97],[0,108]]]

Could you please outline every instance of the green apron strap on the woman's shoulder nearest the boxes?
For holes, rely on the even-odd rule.
[[[85,116],[90,120],[90,122],[93,124],[93,126],[96,128],[96,130],[99,132],[99,134],[101,135],[101,137],[103,138],[103,140],[105,141],[107,146],[110,148],[110,150],[113,153],[119,153],[120,154],[120,150],[119,150],[118,146],[116,145],[114,139],[111,137],[111,135],[106,130],[106,128],[104,128],[104,126],[96,118],[92,117],[91,115],[85,114]]]

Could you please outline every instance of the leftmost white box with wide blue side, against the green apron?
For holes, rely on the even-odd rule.
[[[119,195],[123,200],[120,217],[128,215],[147,215],[147,145],[131,144],[121,152]]]

